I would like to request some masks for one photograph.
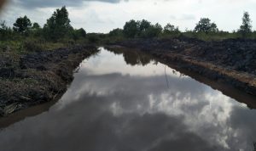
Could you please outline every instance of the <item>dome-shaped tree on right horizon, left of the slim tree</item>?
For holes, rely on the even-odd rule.
[[[208,18],[201,18],[201,20],[195,26],[195,32],[217,32],[218,28],[215,23],[211,23]]]

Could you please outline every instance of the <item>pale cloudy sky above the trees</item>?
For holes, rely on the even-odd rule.
[[[193,30],[201,18],[209,18],[222,31],[239,29],[247,11],[256,30],[256,0],[9,0],[0,12],[0,20],[12,26],[27,15],[43,26],[56,8],[67,6],[71,25],[87,32],[108,33],[123,28],[128,20],[167,23],[181,31]]]

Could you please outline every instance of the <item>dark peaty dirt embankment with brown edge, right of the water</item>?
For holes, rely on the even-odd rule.
[[[173,39],[131,40],[115,43],[139,48],[178,68],[221,81],[256,95],[256,41],[229,39],[204,42],[178,37]]]

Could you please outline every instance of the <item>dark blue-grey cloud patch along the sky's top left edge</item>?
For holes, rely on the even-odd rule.
[[[77,7],[86,2],[119,3],[121,0],[14,0],[25,8]],[[127,0],[126,0],[127,1]]]

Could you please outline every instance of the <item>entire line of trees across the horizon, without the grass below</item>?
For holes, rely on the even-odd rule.
[[[55,12],[46,20],[46,23],[41,27],[38,23],[32,23],[27,16],[19,17],[13,27],[8,27],[5,21],[0,22],[0,40],[11,40],[15,37],[39,37],[46,41],[58,42],[61,39],[67,38],[77,41],[79,39],[87,38],[90,42],[98,42],[108,37],[108,41],[112,41],[116,37],[123,38],[152,38],[158,36],[178,36],[185,32],[192,34],[219,34],[229,33],[225,31],[219,31],[218,26],[208,18],[201,18],[201,20],[195,25],[193,31],[182,32],[178,26],[171,25],[170,23],[162,27],[160,24],[152,24],[148,20],[130,20],[127,21],[123,29],[114,29],[108,34],[87,34],[83,28],[74,29],[70,25],[68,18],[67,8],[57,8]],[[247,37],[252,31],[252,20],[250,15],[245,12],[242,17],[242,23],[240,29],[234,31],[234,33],[241,35],[241,37]],[[88,36],[90,35],[90,36]]]

